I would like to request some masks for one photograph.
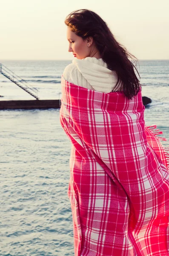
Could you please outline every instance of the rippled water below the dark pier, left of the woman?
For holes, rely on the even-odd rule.
[[[0,112],[0,256],[73,256],[71,143],[58,110],[30,113]]]

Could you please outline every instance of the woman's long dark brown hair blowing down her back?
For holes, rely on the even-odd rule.
[[[123,89],[120,85],[120,90],[123,90],[129,99],[137,95],[140,90],[140,81],[135,75],[137,68],[132,63],[133,58],[135,58],[137,65],[137,58],[115,40],[107,23],[99,15],[88,9],[80,9],[71,12],[66,17],[65,24],[83,40],[89,36],[93,38],[107,67],[117,73],[117,83],[112,91],[119,88],[120,81],[122,81]],[[137,74],[140,77],[138,71]]]

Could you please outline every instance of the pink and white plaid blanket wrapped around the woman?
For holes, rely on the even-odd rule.
[[[75,256],[169,256],[168,155],[145,126],[141,92],[61,83]]]

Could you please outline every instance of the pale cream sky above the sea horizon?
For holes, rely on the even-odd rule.
[[[141,59],[169,59],[169,0],[0,0],[0,61],[72,60],[65,17],[91,9]]]

